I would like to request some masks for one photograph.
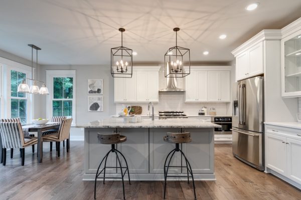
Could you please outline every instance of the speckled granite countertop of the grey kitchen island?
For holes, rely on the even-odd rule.
[[[213,127],[221,127],[218,124],[211,122],[203,122],[201,119],[189,119],[189,118],[180,118],[180,119],[143,119],[142,122],[130,123],[123,122],[122,118],[107,118],[103,120],[91,121],[85,124],[77,124],[77,128],[115,128],[115,127],[196,127],[196,128],[213,128]]]

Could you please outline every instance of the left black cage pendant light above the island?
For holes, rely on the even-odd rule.
[[[121,32],[121,46],[111,48],[111,74],[113,77],[131,78],[133,74],[132,49],[123,46],[124,28]]]

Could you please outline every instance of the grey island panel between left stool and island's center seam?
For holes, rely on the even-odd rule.
[[[126,141],[118,145],[118,150],[126,158],[129,172],[148,173],[148,128],[117,128],[117,132],[126,136]],[[125,166],[123,159],[122,165]],[[137,177],[133,178],[136,179]]]

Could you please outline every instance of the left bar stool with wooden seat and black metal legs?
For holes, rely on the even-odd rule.
[[[127,171],[128,181],[129,181],[129,184],[130,184],[129,171],[128,171],[128,166],[127,166],[127,162],[126,162],[125,157],[123,156],[123,154],[119,150],[117,150],[115,148],[115,144],[122,143],[122,142],[126,141],[126,136],[120,135],[119,133],[114,133],[114,134],[100,134],[100,133],[98,133],[97,137],[98,137],[98,142],[99,143],[102,143],[102,144],[111,144],[111,149],[103,157],[103,159],[101,160],[101,162],[100,162],[100,164],[99,164],[99,166],[97,168],[97,172],[96,172],[96,175],[95,175],[95,183],[94,183],[94,199],[96,199],[96,180],[97,180],[97,177],[103,171],[103,184],[104,184],[104,179],[106,178],[105,177],[105,169],[106,168],[116,168],[116,169],[119,168],[120,169],[121,177],[107,177],[107,178],[121,178],[122,179],[123,199],[125,199],[123,176],[125,175],[125,173]],[[118,163],[119,163],[119,166],[117,166],[117,165],[116,166],[106,166],[106,161],[107,161],[107,158],[108,158],[110,152],[115,152],[117,160],[118,160]],[[119,156],[118,156],[117,152],[123,157],[123,159],[125,161],[125,164],[126,164],[126,167],[125,166],[121,166],[121,162],[120,162],[120,159],[119,159]],[[102,164],[103,160],[105,160],[104,161],[104,167],[98,173],[100,165]],[[123,168],[126,168],[125,171],[124,171],[124,173],[122,172]]]

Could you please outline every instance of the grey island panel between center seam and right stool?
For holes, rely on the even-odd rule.
[[[181,132],[181,128],[149,128],[149,172],[164,173],[164,162],[168,153],[176,147],[175,143],[166,142],[163,137],[167,132]],[[168,163],[167,163],[168,164]],[[170,165],[181,165],[179,152],[173,157]],[[171,173],[180,173],[181,168],[170,168]],[[162,176],[163,178],[164,176]]]

